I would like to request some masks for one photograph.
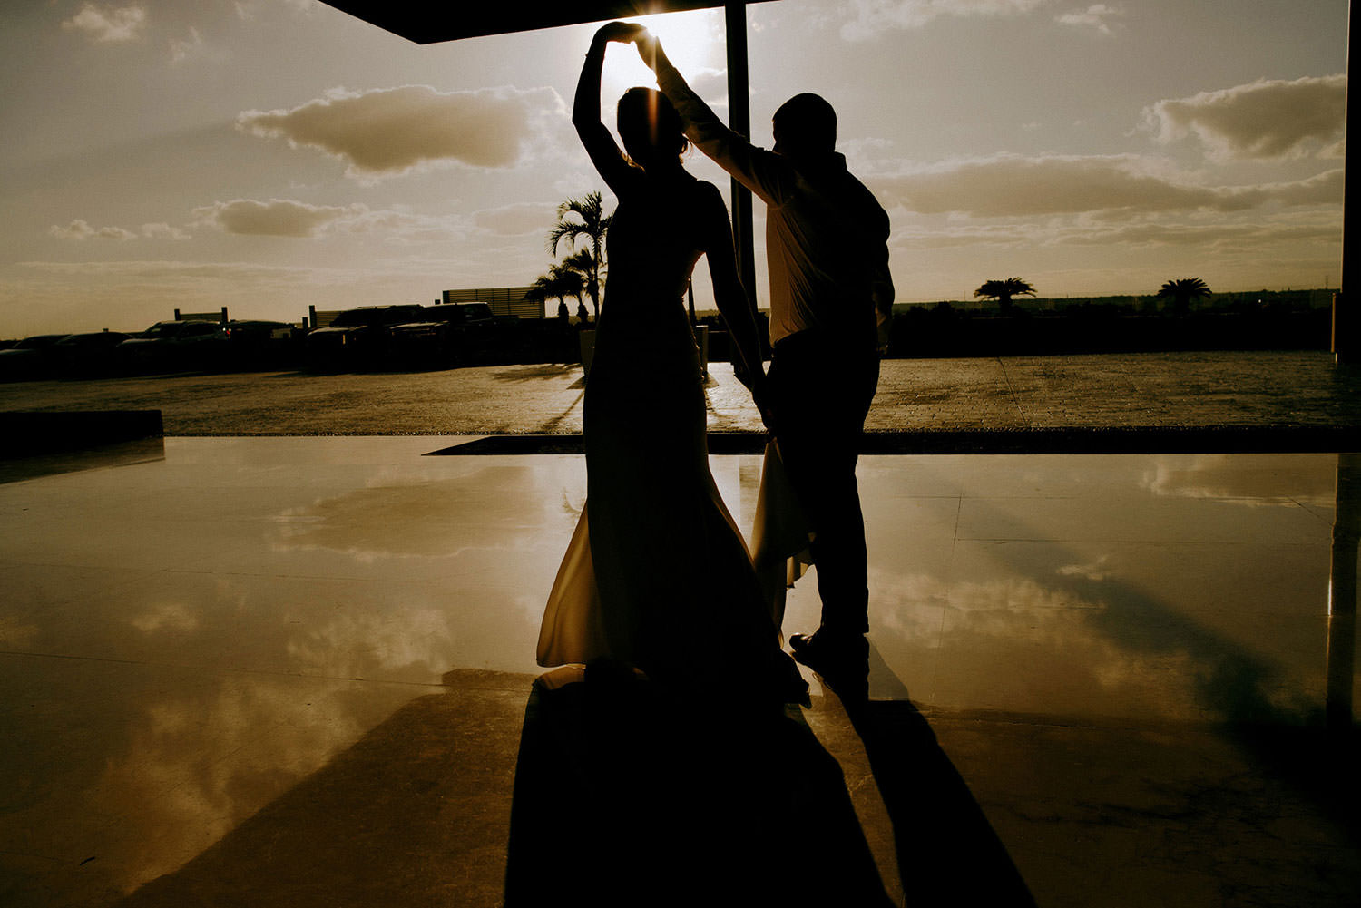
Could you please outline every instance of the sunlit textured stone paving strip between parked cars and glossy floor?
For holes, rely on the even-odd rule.
[[[1317,351],[886,359],[871,433],[1093,427],[1361,427],[1361,369]],[[167,436],[572,434],[580,365],[416,373],[180,374],[0,385],[0,410],[161,410]],[[710,432],[759,432],[728,363]]]

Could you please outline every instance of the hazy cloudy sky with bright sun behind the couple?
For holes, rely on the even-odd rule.
[[[1346,22],[1346,0],[758,3],[753,140],[793,94],[833,103],[902,302],[1010,276],[1337,287]],[[721,11],[646,25],[725,116]],[[531,283],[558,203],[614,206],[570,125],[593,30],[422,46],[316,0],[4,4],[0,338]],[[607,125],[649,75],[611,48]],[[701,309],[708,287],[701,264]]]

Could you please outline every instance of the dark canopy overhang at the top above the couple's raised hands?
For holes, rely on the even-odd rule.
[[[430,3],[416,0],[323,0],[327,5],[363,19],[416,44],[478,38],[508,31],[532,31],[583,22],[626,19],[653,12],[708,10],[727,5],[724,0],[474,0],[472,3]],[[764,0],[747,0],[761,3]]]

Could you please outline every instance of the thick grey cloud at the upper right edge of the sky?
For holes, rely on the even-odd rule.
[[[1347,78],[1307,76],[1293,82],[1259,79],[1249,84],[1160,101],[1143,112],[1161,143],[1190,133],[1215,159],[1281,159],[1338,154]]]

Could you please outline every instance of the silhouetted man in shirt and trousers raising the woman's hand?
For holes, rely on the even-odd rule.
[[[822,599],[821,626],[789,647],[833,686],[859,687],[870,592],[855,467],[887,348],[889,215],[837,154],[837,116],[821,97],[787,101],[772,121],[774,148],[758,148],[690,90],[646,30],[634,42],[690,142],[766,204],[773,354],[769,399],[757,403],[811,530]]]

